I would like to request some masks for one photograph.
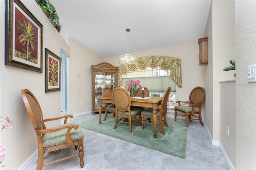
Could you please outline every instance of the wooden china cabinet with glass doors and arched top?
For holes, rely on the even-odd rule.
[[[98,65],[91,65],[92,69],[92,114],[99,112],[98,98],[102,97],[102,89],[110,87],[114,89],[117,87],[117,68],[110,63],[100,63]],[[102,103],[102,111],[105,103]]]

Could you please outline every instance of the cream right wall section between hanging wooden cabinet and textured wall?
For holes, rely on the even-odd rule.
[[[208,65],[204,70],[206,97],[205,121],[213,140],[219,141],[220,87],[219,81],[234,79],[235,71],[223,71],[235,56],[234,1],[212,1],[205,36],[208,36]],[[212,105],[212,106],[211,106]]]

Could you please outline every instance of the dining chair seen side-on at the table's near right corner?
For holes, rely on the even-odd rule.
[[[157,109],[157,113],[156,113],[157,119],[159,120],[159,123],[157,125],[160,126],[160,130],[162,134],[164,134],[163,123],[165,124],[166,127],[169,127],[166,121],[166,114],[167,114],[167,102],[169,99],[170,91],[171,91],[171,87],[167,87],[162,97],[161,109]],[[149,122],[145,122],[144,117],[149,118]],[[141,124],[142,124],[141,128],[142,129],[144,129],[144,123],[153,125],[153,123],[150,123],[151,118],[153,118],[153,108],[148,108],[141,111]]]

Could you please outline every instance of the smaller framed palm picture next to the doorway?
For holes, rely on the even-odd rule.
[[[47,48],[45,56],[45,93],[60,91],[61,58]]]

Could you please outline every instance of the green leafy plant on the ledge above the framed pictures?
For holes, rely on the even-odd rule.
[[[59,17],[55,10],[55,7],[49,2],[49,0],[35,0],[40,6],[44,14],[49,18],[52,25],[60,32],[62,26],[59,23]]]

